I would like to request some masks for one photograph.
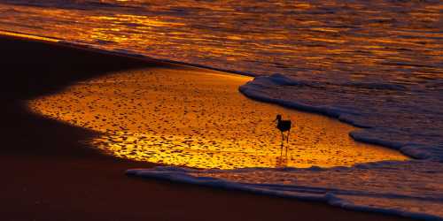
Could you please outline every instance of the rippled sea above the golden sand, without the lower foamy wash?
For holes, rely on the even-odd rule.
[[[261,85],[260,98],[345,110],[346,121],[372,128],[355,138],[441,160],[443,124],[434,122],[443,122],[435,108],[443,106],[442,11],[437,0],[5,0],[0,28],[225,70],[280,72],[301,86]]]

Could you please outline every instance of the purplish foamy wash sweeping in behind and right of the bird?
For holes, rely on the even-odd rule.
[[[441,91],[388,83],[340,85],[294,80],[278,73],[256,77],[239,90],[256,100],[320,113],[362,127],[350,133],[356,141],[398,149],[418,159],[443,160],[443,138],[439,135],[443,128],[435,124],[443,122],[443,113],[435,108],[443,105]],[[359,95],[362,91],[364,96]]]

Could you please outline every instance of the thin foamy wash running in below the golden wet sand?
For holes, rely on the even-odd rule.
[[[426,220],[443,220],[442,164],[429,161],[379,162],[352,168],[248,168],[193,170],[180,167],[131,169],[147,179],[242,190],[284,198],[327,202],[350,210]],[[409,171],[414,167],[413,171]],[[437,181],[435,181],[437,180]],[[416,185],[420,183],[420,185]]]

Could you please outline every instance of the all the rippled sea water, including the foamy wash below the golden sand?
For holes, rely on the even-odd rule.
[[[355,140],[416,158],[351,169],[131,174],[211,177],[204,180],[249,190],[260,183],[268,194],[315,192],[355,210],[443,218],[441,1],[4,0],[0,29],[247,73],[256,78],[239,88],[245,95],[361,126]]]

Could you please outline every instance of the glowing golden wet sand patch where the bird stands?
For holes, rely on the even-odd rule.
[[[32,110],[103,133],[89,141],[123,158],[196,168],[349,166],[406,160],[353,141],[355,128],[323,116],[255,102],[237,88],[250,77],[194,68],[152,68],[78,82],[30,101]],[[291,118],[280,157],[276,114]]]

